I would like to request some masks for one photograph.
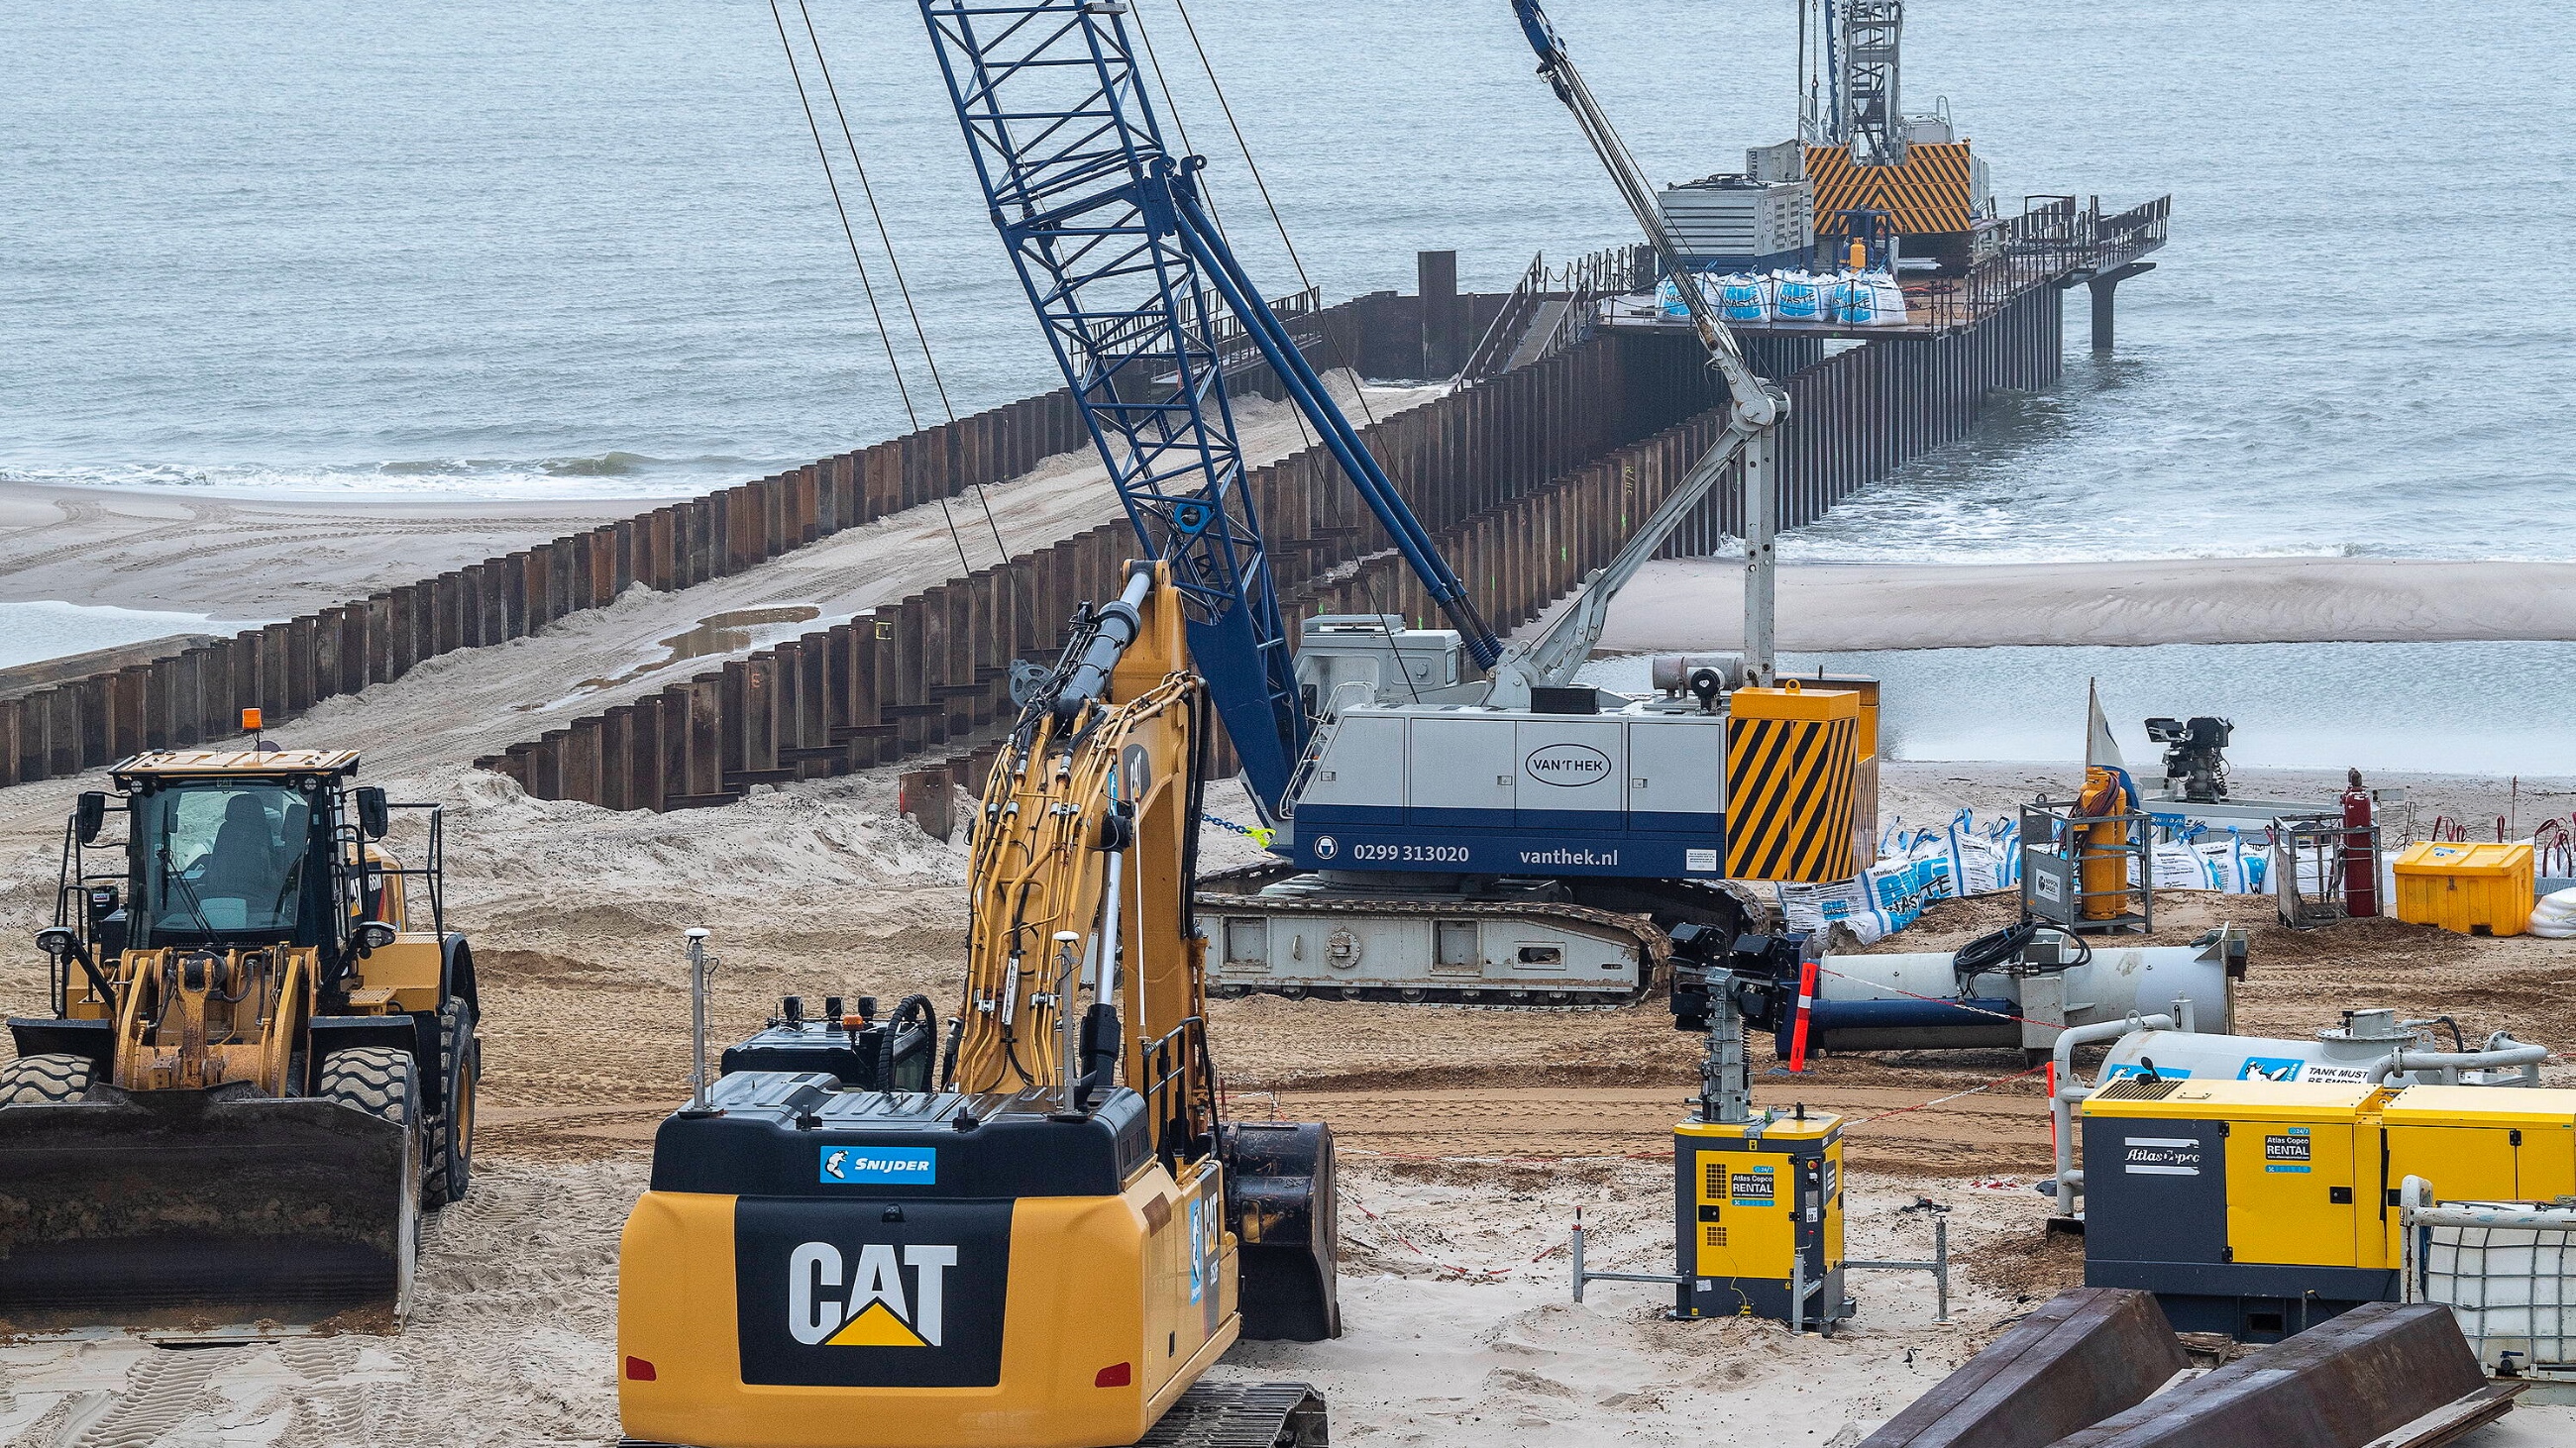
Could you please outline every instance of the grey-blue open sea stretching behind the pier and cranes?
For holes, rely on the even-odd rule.
[[[1656,180],[1793,129],[1788,0],[1551,13]],[[1296,291],[1172,0],[1133,15],[1167,134],[1213,157],[1260,283]],[[1504,289],[1533,252],[1633,240],[1502,0],[1190,21],[1329,296],[1409,289],[1417,247]],[[917,5],[814,23],[951,402],[1054,386]],[[1785,557],[2576,557],[2576,193],[2532,183],[2576,162],[2558,10],[2360,0],[2331,46],[2316,26],[2290,0],[1917,8],[1906,103],[1947,100],[2007,211],[2172,191],[2174,242],[2123,286],[2117,358],[2084,353],[2071,294],[2063,386]],[[889,289],[909,415],[891,384],[757,0],[10,5],[0,134],[5,477],[667,495],[940,417]]]

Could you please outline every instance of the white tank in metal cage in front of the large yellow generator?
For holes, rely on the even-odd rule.
[[[2432,1201],[2406,1177],[2398,1203],[2406,1301],[2447,1306],[2501,1378],[2576,1381],[2576,1198]]]

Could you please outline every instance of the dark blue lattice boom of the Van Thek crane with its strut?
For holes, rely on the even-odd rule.
[[[1396,484],[1262,301],[1172,155],[1121,0],[920,0],[976,180],[1149,557],[1172,564],[1190,654],[1255,801],[1280,814],[1311,721],[1213,325],[1234,312],[1466,652],[1502,654]]]

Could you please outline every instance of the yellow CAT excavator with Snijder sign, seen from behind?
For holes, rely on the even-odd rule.
[[[618,1252],[629,1443],[1324,1443],[1306,1384],[1206,1378],[1236,1337],[1340,1335],[1334,1175],[1324,1126],[1221,1116],[1213,721],[1167,564],[1079,624],[984,786],[935,1090],[902,1090],[927,1013],[791,1000],[662,1123]]]

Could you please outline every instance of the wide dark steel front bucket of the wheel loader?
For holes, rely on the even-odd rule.
[[[394,1327],[415,1126],[314,1098],[113,1095],[0,1105],[0,1337]]]

